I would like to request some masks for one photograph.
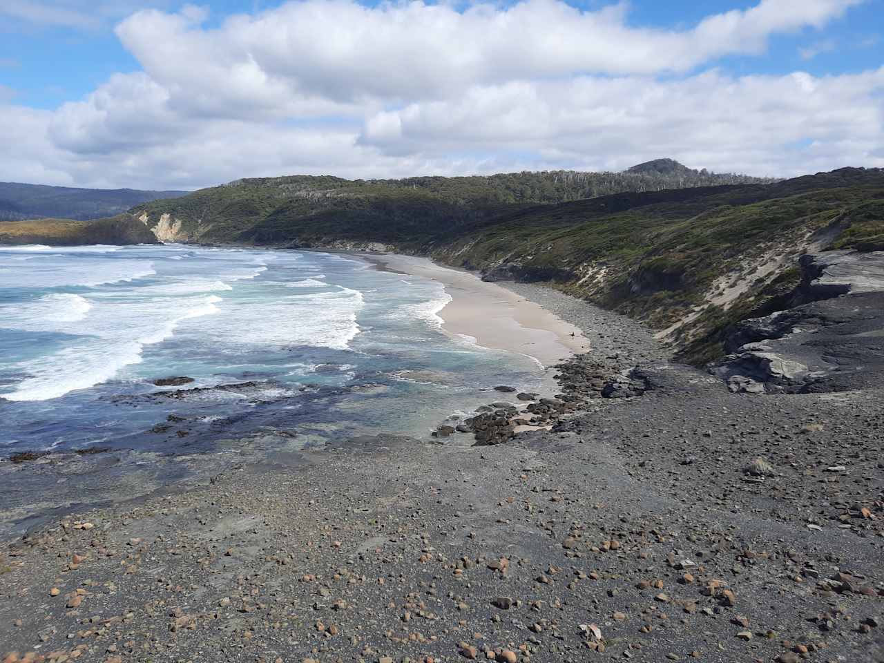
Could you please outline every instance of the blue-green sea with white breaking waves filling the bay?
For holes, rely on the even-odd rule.
[[[448,299],[347,255],[0,248],[0,453],[427,436],[494,385],[541,385],[529,358],[446,335]],[[193,381],[153,384],[173,376]]]

